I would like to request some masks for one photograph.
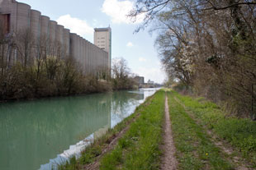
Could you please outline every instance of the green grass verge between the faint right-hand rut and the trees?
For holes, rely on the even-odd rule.
[[[214,131],[220,139],[230,142],[256,167],[256,122],[229,117],[215,103],[202,98],[192,99],[177,92],[175,95],[203,125]]]

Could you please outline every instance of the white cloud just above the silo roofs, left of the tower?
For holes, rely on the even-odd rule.
[[[76,33],[83,37],[86,35],[92,35],[94,31],[93,28],[88,25],[87,21],[72,17],[69,14],[59,16],[57,22],[59,25],[64,25],[64,27],[69,29],[70,32]]]

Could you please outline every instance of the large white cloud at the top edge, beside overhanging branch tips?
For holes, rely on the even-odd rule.
[[[102,5],[102,12],[111,16],[111,22],[116,24],[139,24],[143,21],[145,15],[140,15],[133,22],[127,15],[134,8],[134,2],[130,0],[105,0]]]

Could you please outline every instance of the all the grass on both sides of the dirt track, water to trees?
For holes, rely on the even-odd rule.
[[[164,151],[164,96],[168,96],[178,169],[256,168],[256,123],[225,113],[215,103],[173,90],[159,90],[135,113],[109,130],[59,169],[159,169]],[[113,136],[126,128],[116,144],[102,154]],[[221,145],[220,145],[221,144]]]

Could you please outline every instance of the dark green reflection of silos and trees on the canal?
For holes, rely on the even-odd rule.
[[[31,169],[39,168],[69,145],[110,125],[110,99],[111,94],[93,94],[1,104],[1,166],[7,166],[12,157],[21,164],[30,160]],[[21,169],[13,167],[19,163],[8,166]]]

